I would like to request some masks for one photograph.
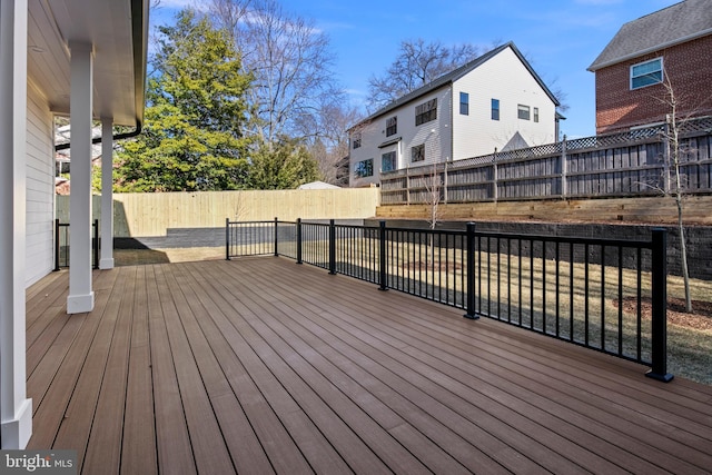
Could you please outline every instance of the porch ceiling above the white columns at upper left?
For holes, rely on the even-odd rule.
[[[95,49],[95,117],[142,120],[146,0],[30,0],[28,13],[28,77],[53,112],[69,113],[69,43],[83,41]]]

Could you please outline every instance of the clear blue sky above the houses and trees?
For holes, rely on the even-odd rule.
[[[595,82],[586,71],[619,28],[679,0],[280,0],[286,11],[314,21],[335,57],[334,71],[354,105],[365,102],[368,78],[382,75],[400,41],[423,38],[443,44],[492,49],[514,41],[548,85],[563,90],[568,110],[562,131],[595,135]],[[162,0],[152,19],[165,21],[191,0]]]

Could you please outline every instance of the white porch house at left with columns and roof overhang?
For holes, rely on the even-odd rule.
[[[3,449],[32,434],[26,392],[26,288],[53,268],[53,116],[70,118],[69,314],[93,308],[91,283],[92,120],[101,120],[102,167],[115,139],[140,131],[148,0],[0,1],[0,416]],[[112,125],[134,132],[112,137]],[[111,174],[102,188],[110,190]],[[102,239],[111,243],[110,192]],[[105,246],[101,267],[113,266]]]

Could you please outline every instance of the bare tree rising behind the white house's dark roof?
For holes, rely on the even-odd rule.
[[[386,72],[368,80],[368,109],[379,109],[477,56],[479,49],[473,44],[446,47],[439,41],[426,42],[422,38],[403,41],[398,56]]]

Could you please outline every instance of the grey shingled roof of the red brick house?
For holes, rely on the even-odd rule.
[[[710,0],[684,0],[623,24],[589,71],[712,34],[711,7]]]

